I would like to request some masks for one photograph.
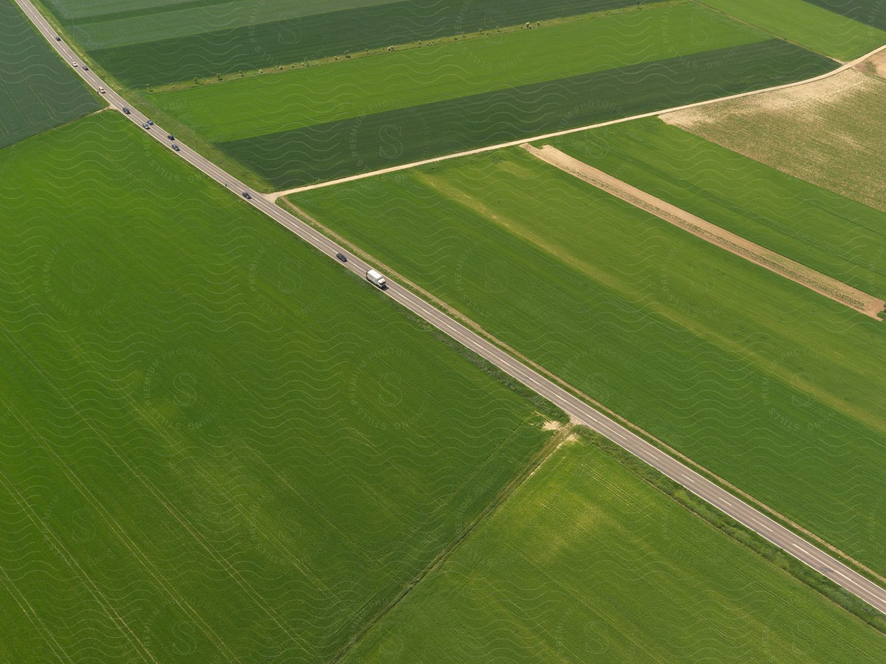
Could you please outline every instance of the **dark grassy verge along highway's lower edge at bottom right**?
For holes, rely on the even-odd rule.
[[[595,444],[603,452],[606,452],[610,457],[617,459],[619,463],[630,469],[634,475],[638,475],[657,490],[660,490],[681,506],[686,507],[690,512],[695,513],[696,516],[710,523],[714,528],[724,532],[739,544],[762,556],[775,567],[794,576],[813,590],[820,592],[836,605],[842,606],[846,611],[857,616],[882,634],[886,634],[886,615],[881,614],[873,606],[857,598],[851,592],[844,590],[826,576],[820,575],[812,567],[808,567],[763,537],[758,536],[757,533],[745,528],[738,521],[732,520],[716,507],[711,506],[702,498],[698,498],[696,494],[673,482],[655,468],[633,456],[633,454],[627,452],[623,447],[613,443],[608,438],[601,436],[593,429],[578,427],[576,431],[582,439]]]

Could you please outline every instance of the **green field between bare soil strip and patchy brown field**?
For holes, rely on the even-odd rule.
[[[758,127],[753,131],[759,143],[766,143],[763,127],[771,136],[777,133],[775,125],[752,120],[748,127]],[[874,130],[870,123],[868,127]],[[731,128],[739,133],[741,127],[734,122]],[[886,295],[884,212],[798,181],[657,118],[559,136],[551,143],[782,256],[859,290]],[[816,144],[821,144],[820,138]],[[849,155],[843,157],[843,167],[851,167],[845,163]],[[868,169],[877,167],[873,154],[861,161]]]

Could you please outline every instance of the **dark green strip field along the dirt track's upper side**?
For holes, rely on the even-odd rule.
[[[284,189],[798,81],[834,66],[828,58],[771,40],[220,143],[219,147]]]

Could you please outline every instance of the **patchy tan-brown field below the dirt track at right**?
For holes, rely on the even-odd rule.
[[[794,89],[664,115],[667,122],[886,212],[886,81],[854,69]],[[881,215],[859,212],[859,225]],[[883,245],[879,251],[882,264]]]

